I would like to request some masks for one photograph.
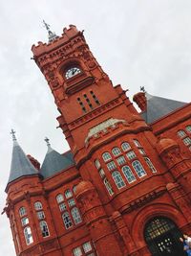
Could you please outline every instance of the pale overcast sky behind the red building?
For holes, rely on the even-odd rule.
[[[56,6],[55,6],[56,4]],[[69,24],[84,30],[97,61],[130,98],[144,85],[152,95],[181,102],[191,96],[190,0],[0,1],[0,210],[11,168],[11,128],[26,153],[42,163],[48,136],[54,150],[68,145],[59,115],[31,47],[47,41],[42,20],[61,35]],[[0,216],[1,255],[15,255],[10,223]]]

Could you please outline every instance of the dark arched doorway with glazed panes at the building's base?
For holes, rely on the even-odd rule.
[[[164,217],[148,221],[144,228],[144,238],[153,256],[184,256],[177,225]]]

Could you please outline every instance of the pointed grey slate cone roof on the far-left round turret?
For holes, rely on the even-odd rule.
[[[11,172],[8,183],[26,175],[38,175],[38,172],[33,167],[25,152],[18,145],[17,141],[14,140],[11,158]]]

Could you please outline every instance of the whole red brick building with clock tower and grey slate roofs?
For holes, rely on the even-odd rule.
[[[181,256],[191,233],[191,105],[141,91],[138,113],[71,25],[32,46],[70,146],[41,167],[13,137],[5,211],[16,255]]]

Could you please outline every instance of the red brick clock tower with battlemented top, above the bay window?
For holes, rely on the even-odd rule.
[[[120,85],[113,86],[74,25],[62,36],[32,46],[33,58],[48,81],[60,112],[59,127],[74,153],[75,162],[87,156],[99,124],[115,127],[137,110]],[[80,152],[80,153],[79,153]]]

